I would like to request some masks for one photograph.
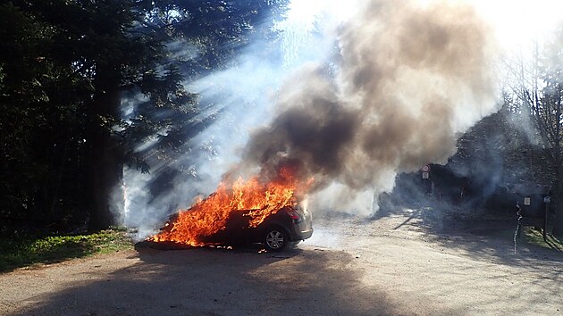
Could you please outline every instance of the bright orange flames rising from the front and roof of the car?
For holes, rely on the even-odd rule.
[[[160,233],[147,240],[203,246],[206,245],[202,241],[204,237],[225,228],[231,212],[244,212],[250,216],[249,226],[257,227],[284,206],[296,206],[296,190],[304,191],[312,180],[301,185],[290,169],[281,168],[278,179],[266,184],[258,177],[248,181],[239,178],[231,186],[223,181],[212,195],[189,210],[177,212],[173,222],[168,222]]]

